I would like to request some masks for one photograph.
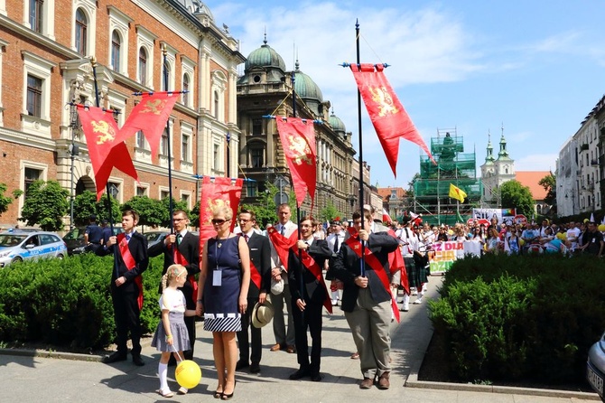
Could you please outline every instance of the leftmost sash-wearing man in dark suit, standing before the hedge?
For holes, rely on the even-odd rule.
[[[139,215],[136,211],[122,213],[124,233],[111,236],[107,244],[97,249],[100,256],[114,253],[114,267],[111,271],[111,299],[116,320],[117,351],[107,356],[104,362],[125,361],[128,348],[128,331],[133,342],[133,362],[143,366],[141,360],[141,308],[143,306],[143,283],[141,274],[149,265],[147,239],[135,230]]]

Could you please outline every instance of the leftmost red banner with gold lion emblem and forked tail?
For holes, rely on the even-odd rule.
[[[118,129],[113,113],[103,108],[78,105],[78,116],[95,173],[97,200],[101,198],[114,166],[138,181],[126,144],[116,140]]]

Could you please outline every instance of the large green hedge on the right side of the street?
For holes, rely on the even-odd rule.
[[[582,381],[605,330],[605,265],[588,256],[457,260],[430,302],[461,381]]]

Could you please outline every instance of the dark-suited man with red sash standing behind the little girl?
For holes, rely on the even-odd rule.
[[[187,281],[179,289],[185,295],[187,309],[195,309],[195,298],[198,296],[198,281],[195,275],[200,273],[200,238],[187,230],[188,224],[189,218],[187,217],[187,212],[182,210],[173,211],[172,228],[174,232],[166,236],[162,241],[149,247],[148,253],[150,258],[163,254],[162,276],[166,273],[166,269],[175,263],[187,269]],[[162,285],[160,285],[159,293],[162,294]],[[191,350],[183,351],[182,353],[185,360],[191,360],[193,357],[195,318],[196,316],[184,317],[191,343]],[[171,356],[171,361],[173,361],[173,364],[176,363],[173,356]]]

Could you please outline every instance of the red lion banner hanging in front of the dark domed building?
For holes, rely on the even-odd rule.
[[[284,148],[285,160],[290,168],[297,205],[301,207],[304,196],[309,192],[312,211],[317,183],[317,149],[313,122],[303,122],[300,117],[287,117],[286,120],[276,117],[275,122]]]

